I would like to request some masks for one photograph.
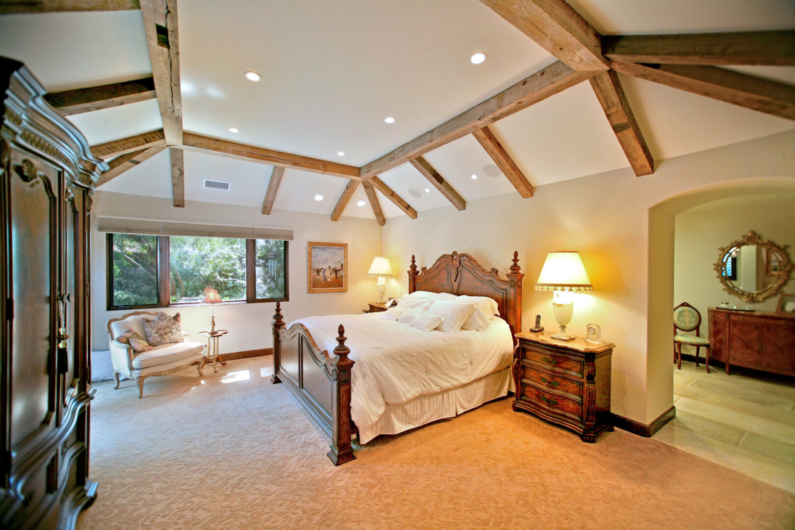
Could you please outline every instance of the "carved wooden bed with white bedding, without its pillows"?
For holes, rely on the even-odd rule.
[[[514,334],[522,329],[524,275],[518,253],[505,279],[497,269],[483,269],[469,254],[457,252],[421,270],[412,256],[408,273],[409,294],[487,296],[497,303],[500,316],[484,331],[449,334],[406,331],[404,324],[377,319],[377,313],[309,317],[287,327],[281,304],[276,304],[271,381],[285,384],[331,437],[328,458],[335,466],[355,458],[353,435],[366,443],[378,434],[456,416],[507,393]],[[429,342],[431,334],[447,349],[429,362],[424,352],[437,347]],[[386,364],[378,365],[375,358]],[[438,366],[431,370],[430,364]],[[400,388],[378,387],[375,381],[387,372],[401,377]]]

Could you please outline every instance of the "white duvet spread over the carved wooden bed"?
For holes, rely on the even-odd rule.
[[[328,315],[295,321],[304,324],[329,354],[337,346],[337,327],[345,327],[345,345],[355,361],[351,419],[360,431],[378,421],[386,404],[454,389],[510,366],[513,359],[510,327],[496,316],[484,331],[456,333],[419,331],[377,316]]]

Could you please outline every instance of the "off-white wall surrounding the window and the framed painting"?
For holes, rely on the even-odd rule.
[[[186,201],[184,208],[175,208],[169,199],[152,199],[97,191],[91,211],[92,261],[91,307],[93,310],[92,349],[106,350],[107,320],[130,311],[107,311],[105,234],[96,226],[98,216],[126,219],[153,219],[217,223],[231,226],[258,226],[293,230],[289,242],[289,302],[281,304],[288,323],[310,315],[359,313],[367,302],[377,300],[375,280],[366,277],[374,256],[381,255],[382,230],[373,219],[343,217],[332,222],[328,215],[274,210],[262,215],[259,208]],[[312,293],[307,291],[307,242],[339,242],[348,245],[347,292]],[[221,351],[245,351],[273,346],[270,322],[275,304],[223,304],[215,308],[216,327],[229,330],[221,339]],[[157,311],[150,309],[146,311]],[[184,331],[203,331],[210,325],[210,308],[169,308],[169,314],[180,312]],[[199,340],[193,335],[191,340]]]

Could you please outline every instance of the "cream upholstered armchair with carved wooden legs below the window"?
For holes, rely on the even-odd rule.
[[[188,366],[196,365],[199,376],[204,367],[204,343],[202,342],[173,342],[153,346],[151,350],[137,352],[130,344],[119,342],[117,339],[127,330],[132,329],[142,337],[146,336],[142,319],[153,319],[157,313],[149,311],[135,311],[118,319],[107,321],[107,332],[111,336],[111,362],[113,363],[115,389],[118,389],[119,374],[138,383],[138,397],[144,395],[144,380],[153,375],[165,375],[178,372]],[[185,339],[190,335],[183,332]]]

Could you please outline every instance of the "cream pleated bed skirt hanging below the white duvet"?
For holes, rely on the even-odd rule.
[[[387,404],[377,422],[364,429],[359,427],[359,443],[367,443],[378,435],[396,435],[432,421],[452,418],[504,397],[508,394],[510,379],[508,366],[455,389],[418,396],[404,404]]]

